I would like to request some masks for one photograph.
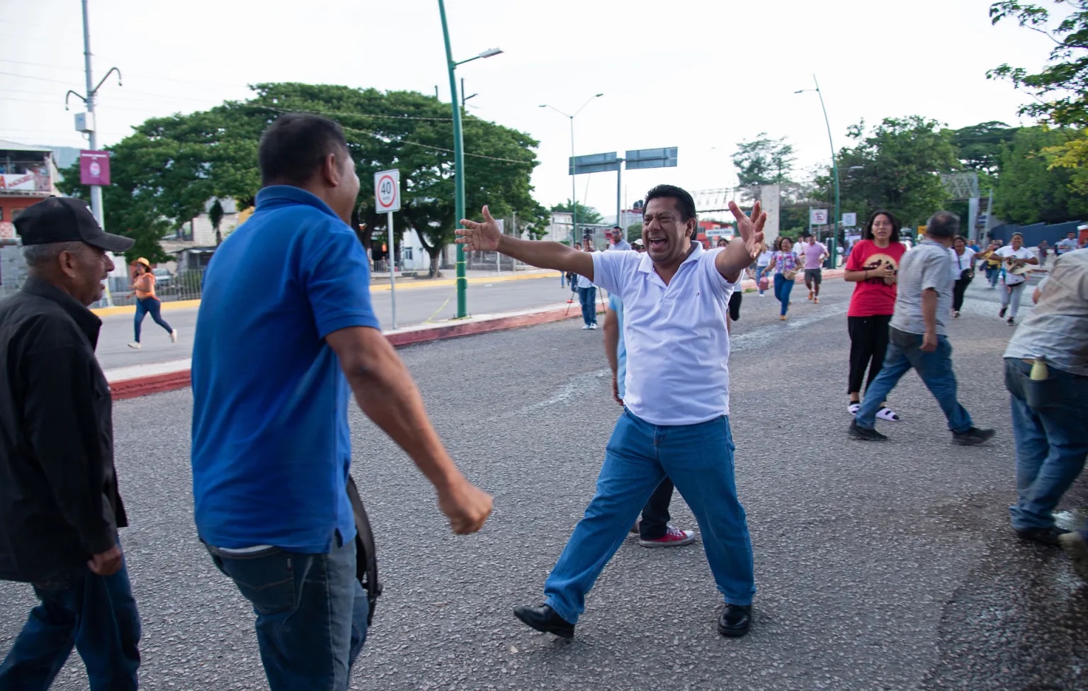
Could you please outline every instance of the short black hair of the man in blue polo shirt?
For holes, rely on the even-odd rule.
[[[330,153],[347,153],[338,124],[310,113],[281,115],[261,135],[257,150],[261,185],[305,185]]]

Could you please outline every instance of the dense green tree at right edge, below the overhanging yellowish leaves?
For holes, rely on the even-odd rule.
[[[1025,225],[1060,223],[1088,213],[1088,196],[1070,188],[1073,171],[1052,168],[1042,153],[1077,137],[1078,133],[1067,127],[1050,129],[1040,125],[1017,132],[1004,147],[993,213]]]

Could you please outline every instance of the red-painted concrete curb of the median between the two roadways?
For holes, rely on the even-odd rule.
[[[841,274],[841,271],[834,270],[833,272],[825,272],[824,276],[831,279],[838,277]],[[798,280],[803,281],[800,276]],[[742,289],[754,287],[756,287],[755,281],[745,280],[741,282]],[[598,311],[601,310],[598,309]],[[453,320],[441,324],[416,324],[388,332],[386,338],[390,340],[390,343],[394,347],[403,348],[420,343],[443,341],[445,338],[459,338],[461,336],[472,336],[494,331],[535,326],[536,324],[562,321],[565,319],[576,319],[581,316],[581,309],[574,305],[561,304],[500,314],[480,314],[478,317],[470,317],[467,320]],[[146,367],[153,370],[156,369],[156,365],[161,368],[163,363],[151,363]],[[184,365],[184,361],[180,361],[180,365]],[[110,381],[110,392],[113,400],[124,400],[126,398],[137,398],[139,396],[150,396],[151,394],[186,388],[191,383],[189,372],[189,368],[186,367],[175,371],[154,372],[145,377]],[[107,372],[107,375],[109,375],[109,372]]]

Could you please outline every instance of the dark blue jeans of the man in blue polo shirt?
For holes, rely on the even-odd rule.
[[[272,691],[345,691],[367,641],[367,593],[355,541],[327,554],[268,547],[239,556],[209,546],[215,566],[254,605],[257,643]]]

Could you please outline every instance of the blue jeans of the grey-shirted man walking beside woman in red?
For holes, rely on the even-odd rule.
[[[937,336],[937,349],[926,353],[922,349],[922,334],[906,333],[892,326],[889,330],[888,355],[880,373],[865,391],[865,399],[857,409],[858,427],[871,430],[876,425],[877,412],[883,407],[888,394],[911,368],[918,372],[929,393],[937,398],[949,429],[960,434],[969,430],[974,422],[970,415],[956,399],[955,372],[952,371],[952,344],[948,336]]]

